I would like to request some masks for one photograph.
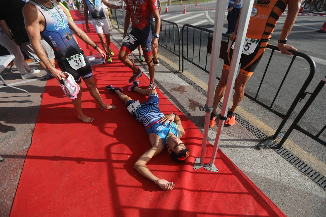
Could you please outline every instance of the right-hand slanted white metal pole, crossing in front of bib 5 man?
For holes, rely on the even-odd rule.
[[[254,0],[247,0],[247,1],[244,1],[243,6],[242,6],[241,15],[239,18],[240,20],[239,20],[239,25],[238,25],[237,36],[235,39],[235,45],[234,45],[234,50],[233,50],[233,55],[232,55],[232,60],[231,60],[231,65],[230,65],[228,81],[227,81],[225,94],[224,94],[223,106],[221,109],[221,115],[220,115],[221,118],[218,121],[218,129],[217,129],[217,133],[216,133],[214,149],[212,152],[212,158],[211,158],[210,164],[205,166],[205,169],[212,170],[212,167],[214,166],[217,149],[218,149],[218,145],[220,142],[220,136],[221,136],[221,132],[222,132],[224,121],[225,121],[223,119],[226,118],[226,116],[227,116],[227,112],[228,112],[228,108],[229,108],[229,104],[230,104],[230,98],[231,98],[231,94],[232,94],[232,90],[233,90],[233,86],[234,86],[234,81],[235,81],[236,75],[238,73],[240,57],[241,57],[241,53],[243,50],[244,39],[245,39],[245,35],[247,33],[253,3],[254,3]]]

